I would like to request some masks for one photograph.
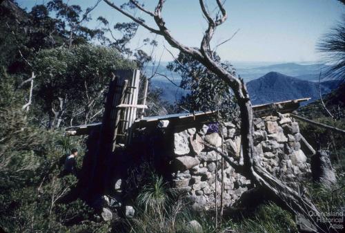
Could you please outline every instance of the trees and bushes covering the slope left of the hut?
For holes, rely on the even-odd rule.
[[[0,3],[1,232],[110,229],[80,199],[64,200],[78,181],[63,176],[64,160],[72,148],[83,154],[86,147],[85,138],[66,138],[63,128],[101,120],[112,73],[140,68],[150,57],[126,48],[135,24],[119,22],[117,41],[105,36],[106,26],[84,26],[91,10],[59,0],[28,11],[15,1]],[[138,59],[126,59],[128,53]],[[154,90],[150,96],[159,103]]]

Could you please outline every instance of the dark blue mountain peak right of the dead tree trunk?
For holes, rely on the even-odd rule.
[[[337,88],[339,81],[321,82],[322,95]],[[250,99],[253,104],[266,104],[284,100],[295,100],[311,97],[310,101],[319,99],[319,83],[300,80],[282,73],[269,72],[247,83]]]

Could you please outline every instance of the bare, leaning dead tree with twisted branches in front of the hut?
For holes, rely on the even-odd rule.
[[[138,3],[138,1],[130,0],[130,3],[132,3],[132,6],[136,8],[136,10],[140,10],[144,15],[152,17],[156,24],[154,27],[149,26],[141,18],[130,14],[130,12],[125,11],[120,6],[117,6],[117,4],[112,3],[112,1],[103,1],[105,1],[111,8],[114,8],[118,12],[121,12],[121,14],[126,15],[126,17],[132,19],[132,21],[135,21],[150,32],[164,37],[170,46],[179,49],[182,53],[192,56],[232,88],[240,110],[240,133],[242,136],[244,165],[239,165],[228,160],[226,154],[222,153],[224,159],[227,158],[226,161],[230,161],[230,165],[233,165],[237,172],[250,179],[257,188],[262,189],[262,191],[267,194],[268,198],[275,201],[279,206],[287,209],[293,214],[302,214],[306,219],[311,221],[315,227],[317,227],[318,232],[329,232],[328,225],[317,222],[316,218],[320,213],[317,207],[315,207],[308,198],[302,197],[301,194],[288,187],[281,180],[270,175],[259,163],[259,154],[255,151],[253,142],[253,110],[246,85],[242,79],[228,73],[228,71],[222,68],[219,63],[215,62],[213,51],[210,49],[210,41],[213,38],[216,28],[223,24],[228,17],[224,8],[224,3],[221,3],[221,0],[215,0],[219,11],[217,12],[216,17],[212,17],[210,12],[208,12],[208,8],[205,5],[204,0],[199,0],[201,11],[208,22],[208,28],[204,32],[204,37],[201,40],[200,47],[193,48],[185,46],[184,44],[181,44],[180,41],[177,41],[177,39],[175,39],[175,37],[170,33],[170,30],[166,27],[166,22],[161,14],[165,0],[158,0],[157,6],[153,11],[144,8],[144,6]]]

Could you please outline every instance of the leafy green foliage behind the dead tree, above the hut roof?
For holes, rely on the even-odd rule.
[[[213,56],[222,68],[235,75],[235,69],[230,63],[221,62],[217,54]],[[193,57],[179,53],[177,61],[170,62],[167,68],[179,73],[182,78],[181,88],[190,91],[179,103],[184,109],[191,112],[218,109],[224,113],[235,111],[235,98],[230,92],[230,86]]]

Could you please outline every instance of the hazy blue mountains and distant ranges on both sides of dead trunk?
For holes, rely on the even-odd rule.
[[[167,75],[177,86],[181,77],[177,73],[168,71],[167,63],[161,63],[158,72]],[[146,73],[150,75],[154,66],[148,66]],[[301,97],[319,98],[319,72],[327,68],[325,64],[268,64],[267,66],[237,64],[237,74],[247,82],[248,91],[254,104],[264,104]],[[259,77],[259,78],[258,78]],[[163,90],[164,100],[173,103],[188,91],[178,88],[166,79],[156,75],[152,78],[151,86]],[[322,82],[322,94],[329,93],[338,86],[339,82],[328,80]]]

